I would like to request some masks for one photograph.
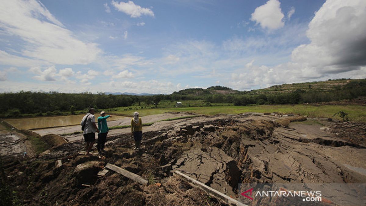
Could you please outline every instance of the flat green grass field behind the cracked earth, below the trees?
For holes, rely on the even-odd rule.
[[[134,110],[124,110],[124,107],[115,108],[113,113],[121,115],[132,115]],[[216,115],[216,114],[241,114],[246,112],[258,112],[258,113],[283,113],[283,114],[298,114],[306,115],[307,117],[317,118],[336,118],[340,117],[333,116],[339,111],[344,111],[348,114],[348,117],[352,121],[366,122],[366,107],[358,105],[258,105],[258,106],[211,106],[211,107],[181,107],[181,108],[143,108],[137,110],[140,116],[162,114],[165,112],[193,112],[205,115]]]

